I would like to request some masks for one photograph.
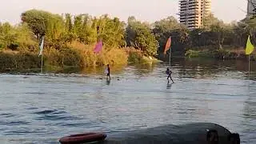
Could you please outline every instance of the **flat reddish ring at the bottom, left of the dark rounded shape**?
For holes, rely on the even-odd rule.
[[[103,141],[106,138],[106,134],[102,133],[85,133],[85,134],[74,134],[59,139],[62,144],[75,144],[85,142],[98,142]]]

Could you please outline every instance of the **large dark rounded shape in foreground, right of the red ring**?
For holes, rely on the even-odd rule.
[[[217,137],[214,138],[214,131]],[[211,133],[213,132],[213,133]],[[211,134],[210,134],[211,133]],[[207,138],[208,134],[208,138]],[[235,144],[230,142],[230,131],[214,123],[191,123],[180,126],[158,126],[108,134],[107,144]],[[232,139],[232,138],[231,138]],[[238,138],[237,138],[238,139]],[[218,142],[216,142],[216,141]],[[209,142],[212,141],[212,142]],[[239,141],[239,140],[238,140]],[[238,142],[240,143],[240,142]]]

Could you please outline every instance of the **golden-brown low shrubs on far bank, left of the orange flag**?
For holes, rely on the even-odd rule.
[[[43,51],[43,70],[48,72],[83,71],[88,67],[122,67],[128,63],[152,64],[156,58],[146,57],[142,51],[132,47],[103,47],[99,54],[94,54],[94,46],[73,42],[61,49],[46,47]],[[41,57],[35,51],[1,50],[1,72],[40,72]]]

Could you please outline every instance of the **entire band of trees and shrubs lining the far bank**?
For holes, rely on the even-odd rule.
[[[169,37],[172,38],[171,50],[174,55],[193,57],[206,54],[223,58],[224,55],[219,54],[230,55],[234,52],[238,56],[244,54],[248,34],[251,35],[253,43],[256,38],[254,17],[242,19],[240,22],[224,23],[210,14],[204,19],[204,26],[195,30],[188,30],[172,16],[152,24],[130,17],[125,23],[106,14],[96,18],[89,14],[59,15],[42,10],[28,10],[22,13],[21,19],[22,22],[17,26],[11,26],[8,22],[0,23],[0,49],[36,55],[38,43],[45,35],[46,58],[52,61],[48,63],[58,66],[83,67],[110,62],[124,64],[126,62],[123,61],[130,59],[139,62],[138,59],[143,56],[161,58]],[[94,54],[93,47],[100,39],[104,46],[103,52]],[[112,52],[115,54],[111,54]],[[122,62],[117,55],[121,53],[124,57]],[[106,54],[109,58],[105,58]],[[140,58],[136,58],[138,56]],[[66,62],[65,58],[73,63]]]

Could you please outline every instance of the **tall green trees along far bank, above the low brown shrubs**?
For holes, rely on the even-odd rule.
[[[125,23],[107,14],[96,18],[89,14],[61,16],[42,10],[27,10],[22,13],[20,25],[0,24],[0,47],[34,47],[42,35],[46,35],[46,46],[55,49],[66,47],[72,42],[94,45],[102,40],[107,49],[133,46],[146,55],[162,54],[170,37],[172,53],[179,55],[195,48],[203,50],[245,46],[248,34],[252,42],[256,43],[254,17],[227,24],[215,18],[214,14],[209,14],[202,22],[202,27],[188,30],[172,16],[154,23],[140,22],[131,16]]]

